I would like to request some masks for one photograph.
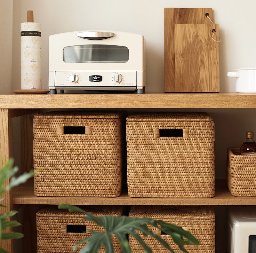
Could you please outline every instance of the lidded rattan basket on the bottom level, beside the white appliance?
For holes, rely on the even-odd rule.
[[[183,227],[184,230],[192,233],[199,241],[200,245],[185,245],[184,248],[189,253],[214,253],[215,252],[215,214],[212,207],[204,206],[148,206],[132,207],[130,217],[148,217],[151,219],[163,220]],[[172,237],[161,234],[160,229],[148,225],[149,229],[164,239],[176,252],[182,252],[173,242]],[[153,253],[170,252],[152,236],[145,237],[139,233],[142,240],[151,248]],[[129,243],[133,253],[144,252],[138,241],[129,235]]]

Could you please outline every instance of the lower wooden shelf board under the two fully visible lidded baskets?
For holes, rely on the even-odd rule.
[[[123,191],[116,198],[102,197],[37,197],[33,186],[19,186],[12,190],[13,204],[43,205],[256,205],[256,197],[234,197],[225,186],[225,180],[216,181],[215,197],[213,198],[131,198]]]

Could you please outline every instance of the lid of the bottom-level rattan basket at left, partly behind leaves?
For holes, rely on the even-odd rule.
[[[114,216],[120,217],[124,212],[123,206],[83,206],[80,207],[86,212],[92,212],[96,217],[99,216]],[[36,213],[39,217],[86,217],[82,212],[69,212],[68,210],[47,208]]]

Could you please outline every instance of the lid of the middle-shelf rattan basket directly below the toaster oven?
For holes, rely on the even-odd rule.
[[[39,113],[34,118],[83,118],[83,119],[118,119],[123,116],[123,112],[109,111],[53,111],[47,113]]]

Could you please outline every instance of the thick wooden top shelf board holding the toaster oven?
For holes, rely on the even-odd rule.
[[[0,95],[0,108],[256,108],[256,94],[14,94]]]

